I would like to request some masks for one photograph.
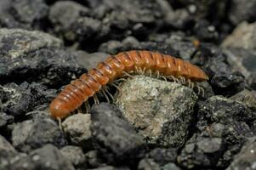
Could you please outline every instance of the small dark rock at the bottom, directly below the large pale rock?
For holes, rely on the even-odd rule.
[[[153,159],[160,166],[163,166],[169,162],[175,162],[177,156],[177,150],[172,148],[156,148],[148,153],[148,157]]]

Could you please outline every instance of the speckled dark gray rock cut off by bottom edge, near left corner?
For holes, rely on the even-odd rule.
[[[74,170],[71,161],[66,159],[54,145],[46,144],[42,148],[31,151],[27,156],[14,156],[9,169],[13,170]]]

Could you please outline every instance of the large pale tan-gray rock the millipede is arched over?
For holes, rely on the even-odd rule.
[[[196,99],[191,88],[178,83],[134,76],[120,87],[117,106],[150,143],[179,147],[187,138]]]

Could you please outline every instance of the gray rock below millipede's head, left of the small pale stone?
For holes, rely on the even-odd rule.
[[[12,142],[17,150],[28,152],[45,144],[66,144],[60,127],[52,119],[29,120],[17,123],[12,132]]]

